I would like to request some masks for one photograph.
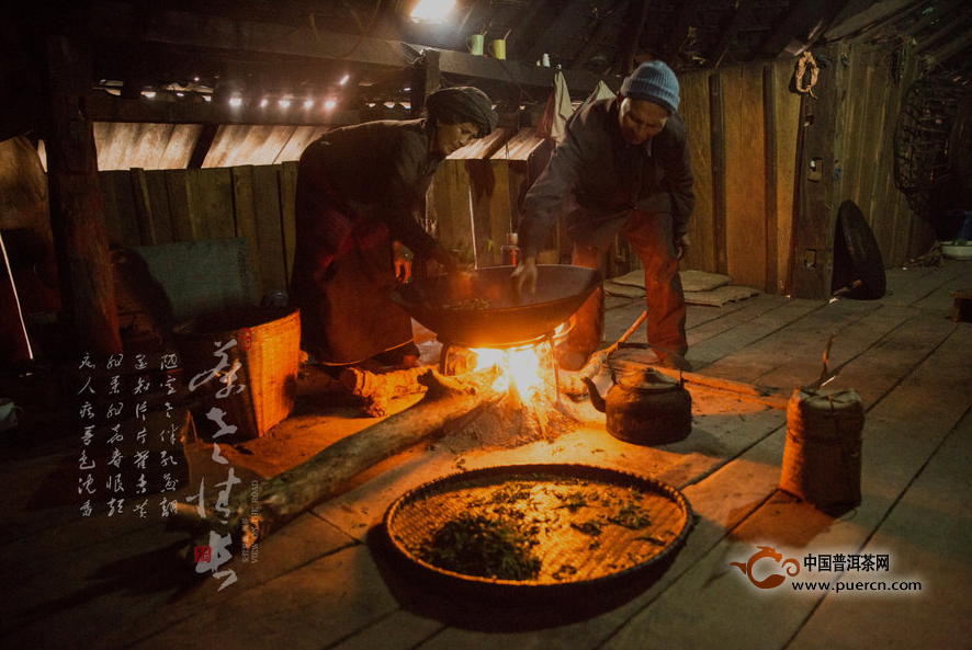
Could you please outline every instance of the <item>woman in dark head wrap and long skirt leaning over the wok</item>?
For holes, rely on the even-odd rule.
[[[301,156],[291,304],[301,309],[302,347],[323,364],[417,362],[411,319],[391,299],[393,242],[455,265],[418,217],[442,159],[497,122],[476,88],[438,90],[426,107],[421,119],[330,130]]]

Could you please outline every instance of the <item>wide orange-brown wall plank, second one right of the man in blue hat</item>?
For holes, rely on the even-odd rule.
[[[726,271],[735,284],[766,286],[766,151],[762,66],[723,70]]]

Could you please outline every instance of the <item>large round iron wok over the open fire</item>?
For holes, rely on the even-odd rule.
[[[513,266],[488,266],[437,275],[400,286],[392,299],[443,343],[507,347],[553,332],[600,285],[598,271],[538,265],[536,292],[518,297]]]

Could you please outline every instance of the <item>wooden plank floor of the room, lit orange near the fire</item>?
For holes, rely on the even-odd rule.
[[[757,295],[689,308],[688,357],[697,373],[777,387],[783,396],[817,378],[836,335],[830,367],[843,369],[827,389],[852,388],[867,410],[863,501],[836,518],[777,490],[782,410],[693,391],[691,435],[658,448],[615,441],[586,407],[584,422],[554,442],[482,448],[457,431],[420,445],[261,541],[249,561],[234,558],[227,567],[237,581],[219,591],[219,579],[193,580],[174,559],[184,535],[167,532],[160,515],[81,517],[76,505],[43,506],[36,492],[77,454],[77,441],[67,438],[67,451],[56,442],[21,445],[0,461],[8,524],[0,545],[2,646],[970,648],[972,323],[949,319],[950,293],[970,287],[972,262],[947,260],[889,271],[888,295],[875,301]],[[613,303],[609,340],[642,309],[638,301]],[[238,447],[231,461],[242,488],[372,422],[348,414],[305,406],[265,440]],[[274,449],[287,460],[274,458]],[[189,449],[189,458],[202,464],[207,452],[197,452]],[[461,467],[530,461],[656,477],[685,493],[696,525],[653,582],[539,612],[443,596],[403,579],[383,557],[376,525],[404,491]],[[77,478],[68,472],[63,480]],[[782,586],[759,590],[731,566],[758,546],[801,566],[809,555],[886,555],[889,568],[840,575],[804,567]],[[791,583],[803,579],[830,589],[795,591]],[[920,590],[870,591],[878,582]],[[864,586],[846,589],[855,583]]]

